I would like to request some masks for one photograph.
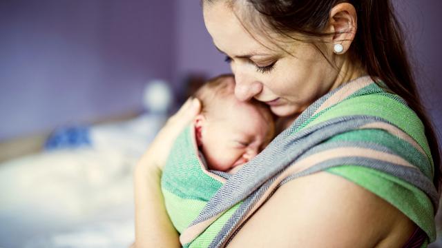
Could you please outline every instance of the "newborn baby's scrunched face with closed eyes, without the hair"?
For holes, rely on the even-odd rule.
[[[249,103],[235,101],[206,118],[200,138],[209,169],[227,172],[247,163],[273,138],[269,112]]]

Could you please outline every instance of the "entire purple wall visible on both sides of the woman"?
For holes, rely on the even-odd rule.
[[[393,2],[442,126],[442,2]],[[198,1],[0,1],[0,37],[0,141],[140,108],[149,79],[229,72]]]

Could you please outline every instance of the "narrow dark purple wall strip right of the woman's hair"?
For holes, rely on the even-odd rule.
[[[442,1],[394,0],[394,3],[399,19],[405,23],[408,52],[413,56],[421,97],[434,125],[439,129],[439,140],[442,141]]]

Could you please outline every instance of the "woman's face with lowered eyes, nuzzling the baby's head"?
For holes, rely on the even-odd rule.
[[[297,116],[338,86],[338,71],[314,45],[283,41],[276,34],[271,37],[278,41],[270,41],[269,36],[255,31],[259,27],[244,28],[246,21],[238,20],[239,16],[224,1],[204,4],[206,28],[231,63],[240,101],[255,98],[278,116]]]

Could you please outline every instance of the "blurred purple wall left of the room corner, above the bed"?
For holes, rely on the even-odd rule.
[[[171,80],[173,1],[1,1],[0,141],[140,109]],[[164,18],[166,17],[166,18]]]

